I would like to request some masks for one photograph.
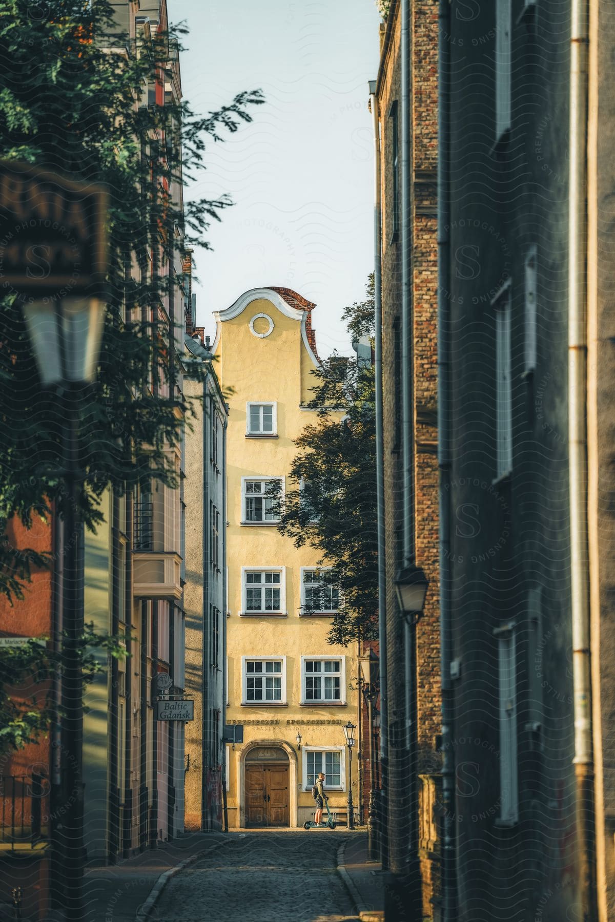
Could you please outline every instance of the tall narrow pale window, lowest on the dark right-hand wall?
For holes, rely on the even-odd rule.
[[[519,822],[519,764],[516,720],[516,638],[514,621],[495,628],[498,641],[498,703],[500,723],[499,826]]]

